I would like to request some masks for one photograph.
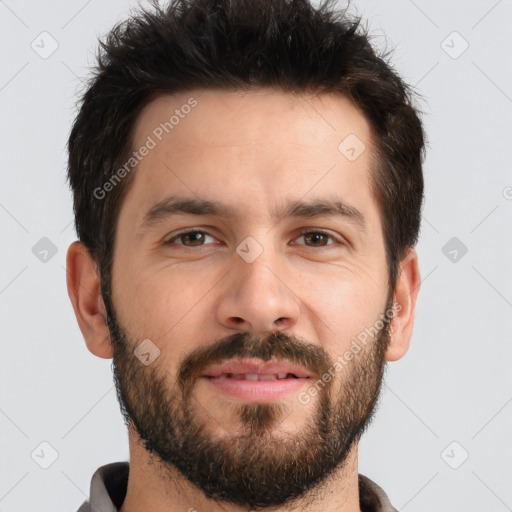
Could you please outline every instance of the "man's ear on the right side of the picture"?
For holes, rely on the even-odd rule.
[[[390,325],[390,341],[386,351],[387,361],[397,361],[409,349],[420,283],[418,255],[410,248],[399,267],[394,298],[395,313]]]

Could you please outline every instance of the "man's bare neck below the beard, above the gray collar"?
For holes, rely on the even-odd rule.
[[[151,460],[132,428],[129,429],[130,472],[128,489],[120,512],[246,512],[247,507],[207,498],[200,489],[174,470],[173,478]],[[346,464],[321,488],[312,489],[292,506],[269,507],[265,512],[360,512],[357,444],[352,447]]]

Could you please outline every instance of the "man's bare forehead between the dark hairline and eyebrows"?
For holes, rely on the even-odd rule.
[[[260,88],[165,95],[142,110],[132,142],[138,153],[150,147],[122,206],[133,222],[170,194],[224,198],[253,218],[261,211],[251,206],[263,199],[279,205],[339,192],[351,204],[373,203],[369,124],[340,94]],[[362,152],[350,158],[344,144]]]

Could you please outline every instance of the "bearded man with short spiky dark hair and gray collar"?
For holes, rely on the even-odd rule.
[[[396,510],[357,451],[420,284],[409,88],[306,0],[175,0],[98,58],[67,285],[130,461],[80,512]]]

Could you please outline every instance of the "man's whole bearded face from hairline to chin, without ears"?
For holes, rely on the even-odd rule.
[[[124,414],[169,477],[241,506],[284,504],[343,466],[379,394],[388,329],[360,336],[391,306],[368,123],[341,96],[198,90],[143,110],[144,145],[105,301]],[[229,215],[147,215],[171,196]],[[295,202],[341,202],[359,221],[286,215]],[[241,360],[284,366],[248,370],[259,381],[215,368]],[[286,365],[308,378],[265,380]]]

